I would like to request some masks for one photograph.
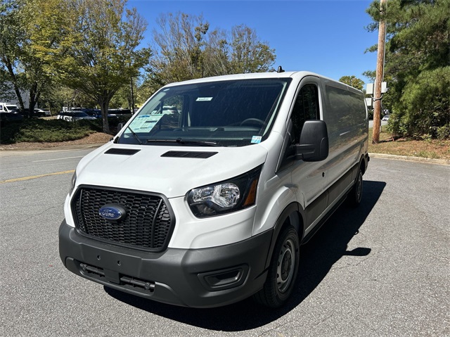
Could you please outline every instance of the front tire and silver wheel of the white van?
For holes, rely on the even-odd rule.
[[[254,295],[257,303],[276,308],[288,301],[297,279],[299,247],[300,242],[294,227],[282,229],[276,241],[264,287]]]

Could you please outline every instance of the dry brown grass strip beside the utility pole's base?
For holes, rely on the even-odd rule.
[[[397,139],[382,128],[379,144],[372,144],[372,129],[368,129],[368,141],[370,153],[450,160],[450,139]]]

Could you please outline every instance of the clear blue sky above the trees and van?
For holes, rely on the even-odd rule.
[[[354,75],[365,83],[366,70],[375,70],[376,53],[364,53],[378,42],[378,32],[365,27],[372,20],[368,0],[129,0],[146,19],[148,27],[143,46],[152,42],[162,13],[182,12],[203,15],[210,30],[231,31],[245,24],[257,37],[275,49],[274,68],[309,70],[334,80]]]

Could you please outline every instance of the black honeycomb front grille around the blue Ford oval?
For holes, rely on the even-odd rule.
[[[99,215],[98,210],[111,203],[126,210],[123,219],[106,220]],[[80,186],[72,199],[72,212],[81,234],[152,252],[167,248],[175,224],[164,198],[139,191]]]

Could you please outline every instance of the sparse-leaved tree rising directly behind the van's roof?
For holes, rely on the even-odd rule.
[[[255,30],[238,25],[231,32],[210,31],[202,16],[162,14],[153,31],[155,53],[144,85],[164,84],[200,77],[264,72],[275,61],[274,49],[259,41]]]

